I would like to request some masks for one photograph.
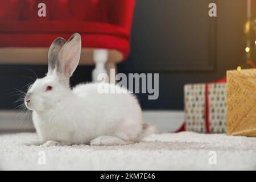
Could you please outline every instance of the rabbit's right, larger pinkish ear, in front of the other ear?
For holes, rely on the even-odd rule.
[[[77,33],[68,39],[57,58],[57,74],[62,80],[68,80],[79,64],[81,54],[81,36]]]

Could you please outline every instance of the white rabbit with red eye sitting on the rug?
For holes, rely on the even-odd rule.
[[[141,107],[132,94],[99,93],[97,83],[69,87],[80,53],[77,33],[67,42],[57,38],[51,44],[48,73],[34,82],[24,98],[40,138],[27,144],[110,146],[139,142],[153,133],[153,126],[143,124]],[[106,86],[124,91],[117,85]]]

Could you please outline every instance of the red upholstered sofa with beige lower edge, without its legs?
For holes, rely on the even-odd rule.
[[[38,16],[39,3],[46,4],[46,17]],[[74,32],[82,37],[81,63],[93,63],[95,48],[107,49],[110,61],[117,63],[129,54],[134,4],[135,0],[0,0],[0,63],[46,64],[51,42]],[[35,59],[29,60],[31,56]]]

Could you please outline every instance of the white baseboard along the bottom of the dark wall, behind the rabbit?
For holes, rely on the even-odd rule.
[[[20,118],[22,116],[22,118]],[[183,111],[144,110],[144,122],[156,126],[160,132],[176,131],[184,121]],[[20,111],[0,110],[0,131],[34,131],[31,115]]]

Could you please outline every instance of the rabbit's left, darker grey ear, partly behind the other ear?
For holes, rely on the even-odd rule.
[[[63,38],[55,39],[48,51],[48,72],[52,72],[55,68],[57,57],[59,56],[61,48],[66,43],[66,40]]]

